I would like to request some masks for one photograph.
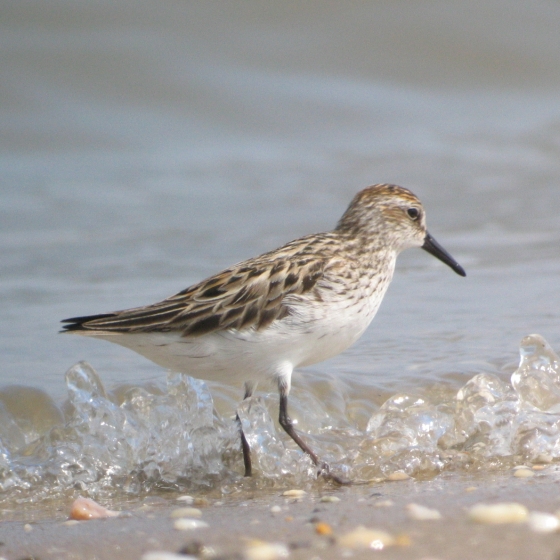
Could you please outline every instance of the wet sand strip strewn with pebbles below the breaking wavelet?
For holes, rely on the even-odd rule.
[[[279,490],[267,498],[244,493],[243,500],[210,500],[200,507],[209,527],[174,529],[170,513],[181,506],[174,499],[130,511],[127,517],[82,521],[63,519],[0,524],[0,557],[46,559],[140,559],[149,551],[179,552],[201,544],[218,558],[244,558],[251,539],[283,543],[294,559],[371,558],[372,550],[348,549],[337,538],[359,525],[381,529],[396,544],[377,552],[380,558],[430,559],[556,559],[560,533],[537,533],[527,524],[484,525],[470,521],[467,509],[479,502],[518,502],[530,511],[554,513],[560,507],[555,467],[528,479],[511,473],[470,476],[443,475],[431,481],[413,479],[371,486],[315,485],[301,499],[286,498]],[[322,502],[329,495],[339,502]],[[258,497],[256,497],[258,496]],[[413,520],[406,505],[436,508],[440,520]],[[280,511],[273,512],[272,508]],[[70,503],[68,503],[68,511]],[[320,535],[323,522],[332,535]],[[204,557],[204,555],[202,555]]]

